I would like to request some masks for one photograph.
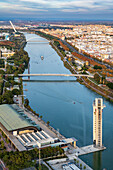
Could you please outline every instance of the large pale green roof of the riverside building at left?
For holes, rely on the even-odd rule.
[[[20,111],[22,112],[22,110],[15,104],[0,105],[0,122],[8,131],[33,126],[19,113]]]

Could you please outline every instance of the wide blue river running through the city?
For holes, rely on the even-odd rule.
[[[26,39],[45,41],[35,34],[25,33]],[[63,65],[58,54],[47,43],[28,42],[25,50],[30,57],[30,73],[66,73],[70,71]],[[41,56],[44,59],[41,60]],[[26,70],[25,73],[28,71]],[[72,80],[62,77],[33,77],[33,80]],[[93,101],[101,97],[78,82],[27,82],[23,83],[24,94],[30,106],[50,121],[55,129],[65,137],[75,137],[78,146],[93,143]],[[25,86],[25,84],[27,84]],[[81,158],[95,170],[106,168],[113,170],[113,104],[104,100],[103,110],[103,144],[107,148],[103,152],[88,154]]]

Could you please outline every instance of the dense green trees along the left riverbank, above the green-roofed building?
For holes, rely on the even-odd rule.
[[[14,77],[8,76],[5,77],[4,74],[14,74],[14,76],[18,76],[18,74],[21,74],[25,71],[25,69],[28,67],[29,63],[29,57],[28,53],[24,51],[23,47],[20,49],[21,44],[25,41],[25,37],[23,34],[20,35],[18,39],[16,39],[12,35],[12,42],[15,44],[15,54],[8,58],[7,62],[7,68],[6,71],[0,70],[0,74],[2,74],[2,78],[5,79],[4,82],[2,82],[1,85],[1,93],[3,95],[0,95],[0,104],[12,104],[14,95],[22,94],[22,81],[20,83],[17,83],[14,81]],[[2,60],[1,60],[2,62]],[[10,64],[13,63],[13,64]],[[14,85],[18,85],[20,90],[13,89]],[[9,88],[10,90],[7,90]],[[11,91],[11,88],[13,89]],[[4,90],[3,90],[4,89]]]

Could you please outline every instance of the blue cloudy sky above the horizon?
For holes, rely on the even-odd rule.
[[[113,20],[113,0],[0,0],[0,19]]]

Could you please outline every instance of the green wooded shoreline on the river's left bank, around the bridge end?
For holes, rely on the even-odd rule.
[[[24,50],[26,45],[24,34],[19,33],[18,37],[12,34],[11,40],[14,54],[7,58],[6,67],[0,70],[0,104],[13,104],[15,95],[23,95],[22,79],[18,78],[18,74],[25,71],[30,60]],[[14,74],[14,76],[5,76],[5,74]]]

